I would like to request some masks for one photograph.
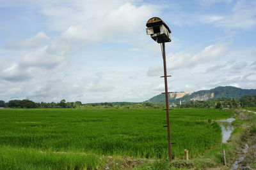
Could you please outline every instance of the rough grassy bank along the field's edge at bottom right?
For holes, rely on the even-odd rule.
[[[250,110],[250,108],[247,108],[247,110]],[[244,155],[245,158],[241,164],[256,169],[256,114],[248,111],[234,110],[233,117],[236,118],[233,122],[235,129],[230,139],[228,139],[228,143],[208,150],[204,155],[196,159],[178,159],[173,160],[172,163],[166,160],[156,160],[142,164],[135,169],[230,169],[232,164],[234,164],[241,155],[244,155],[243,148],[246,144],[249,145],[251,153],[249,152]],[[223,166],[223,149],[225,149],[226,153],[227,166]]]

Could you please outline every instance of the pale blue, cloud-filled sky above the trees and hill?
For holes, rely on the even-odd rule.
[[[168,89],[256,89],[256,1],[0,0],[0,100],[142,102],[164,92],[149,18],[170,27]]]

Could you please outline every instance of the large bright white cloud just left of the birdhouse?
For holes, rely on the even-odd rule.
[[[131,3],[125,3],[115,9],[109,9],[105,15],[96,15],[88,18],[84,23],[77,23],[68,27],[56,38],[58,43],[64,42],[65,45],[90,45],[101,41],[119,41],[121,38],[131,36],[138,38],[141,31],[144,31],[145,20],[152,16],[154,8],[150,6],[134,6]],[[93,11],[102,13],[102,11]],[[102,13],[103,14],[103,13]],[[74,18],[77,15],[73,16]],[[90,23],[90,24],[88,24]],[[143,30],[141,29],[143,28]]]

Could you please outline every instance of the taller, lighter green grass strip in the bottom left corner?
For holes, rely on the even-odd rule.
[[[92,154],[40,152],[31,148],[0,147],[0,169],[97,169],[102,160]]]

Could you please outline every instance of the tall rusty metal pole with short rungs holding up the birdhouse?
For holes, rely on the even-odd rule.
[[[167,123],[167,135],[168,135],[168,153],[169,160],[172,160],[172,143],[170,134],[170,120],[169,120],[169,101],[168,101],[168,85],[167,85],[167,73],[166,73],[166,57],[165,57],[165,44],[163,43],[163,62],[164,62],[164,87],[165,87],[165,105],[166,105],[166,123]]]

